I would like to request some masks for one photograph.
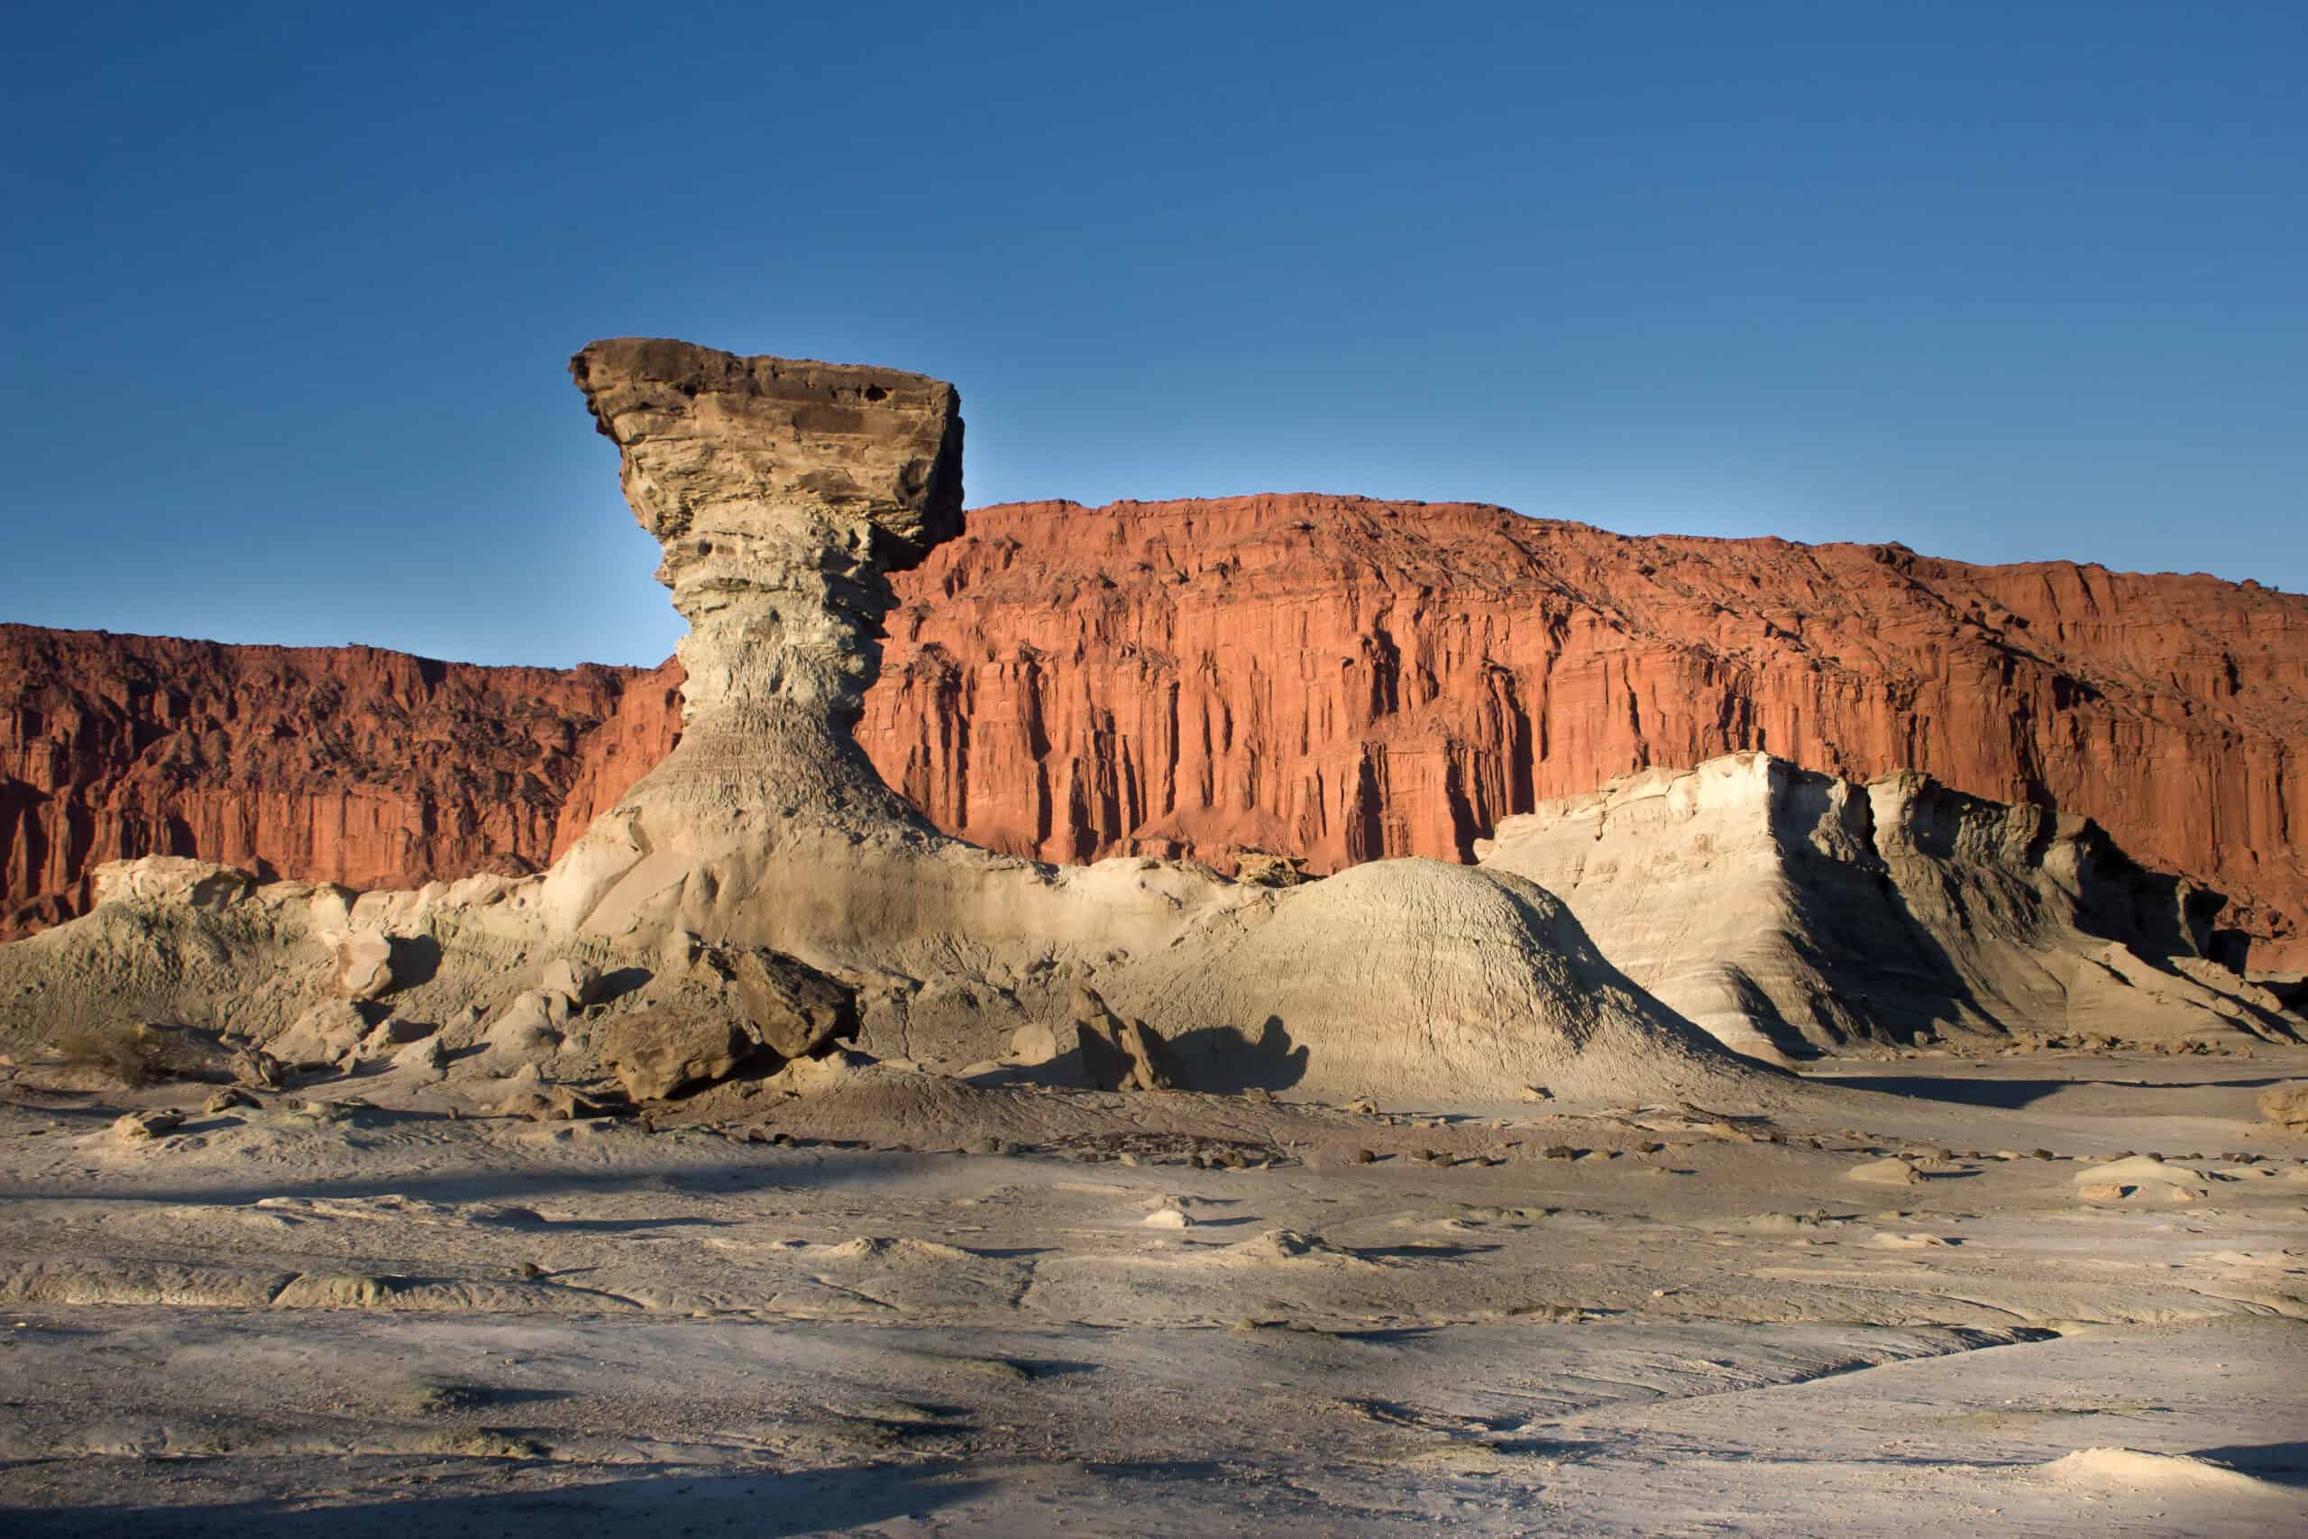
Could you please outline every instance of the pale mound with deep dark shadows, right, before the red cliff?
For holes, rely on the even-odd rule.
[[[2100,1036],[2285,1041],[2220,909],[2086,819],[1851,784],[1768,755],[1643,771],[1475,844],[1579,916],[1634,983],[1740,1052]]]

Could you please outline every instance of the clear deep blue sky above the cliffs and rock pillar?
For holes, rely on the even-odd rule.
[[[2308,5],[7,5],[0,618],[679,623],[563,362],[972,503],[1362,491],[2308,588]]]

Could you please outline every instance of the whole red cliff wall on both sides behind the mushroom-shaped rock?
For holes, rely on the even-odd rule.
[[[2308,600],[2257,584],[1334,496],[981,508],[893,581],[859,741],[1002,851],[1470,861],[1546,798],[1766,750],[2086,814],[2230,893],[2255,967],[2308,964]],[[155,851],[540,868],[672,745],[676,685],[0,625],[0,934]]]

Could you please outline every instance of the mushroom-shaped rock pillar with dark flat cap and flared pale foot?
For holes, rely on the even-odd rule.
[[[547,874],[547,925],[919,974],[956,944],[1168,941],[1235,902],[1202,872],[1059,872],[939,835],[852,738],[889,572],[960,531],[953,385],[632,337],[570,374],[690,632],[681,743]]]

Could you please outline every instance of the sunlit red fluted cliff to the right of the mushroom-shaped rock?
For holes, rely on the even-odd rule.
[[[2308,600],[2257,584],[1251,496],[981,508],[900,598],[859,736],[997,849],[1466,861],[1756,748],[2084,812],[2308,955]]]

